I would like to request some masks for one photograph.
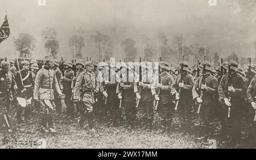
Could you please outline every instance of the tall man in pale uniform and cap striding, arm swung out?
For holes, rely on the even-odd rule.
[[[65,95],[61,93],[55,72],[50,70],[53,67],[53,58],[47,56],[45,58],[44,68],[38,71],[35,79],[35,90],[34,90],[34,100],[41,101],[43,106],[43,116],[42,116],[42,131],[48,133],[55,133],[53,129],[52,122],[52,111],[53,111],[53,100],[54,91],[59,94],[60,98],[64,98]],[[48,127],[48,129],[47,129]]]

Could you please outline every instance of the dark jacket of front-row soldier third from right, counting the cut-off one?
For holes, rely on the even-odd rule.
[[[203,76],[200,76],[196,79],[195,81],[195,85],[193,86],[192,89],[192,96],[193,99],[197,98],[200,96],[200,86],[203,80]],[[207,85],[207,89],[203,90],[203,105],[212,105],[211,103],[213,102],[213,97],[214,95],[216,95],[217,93],[217,89],[218,89],[218,80],[216,77],[208,74],[205,75],[205,85]]]

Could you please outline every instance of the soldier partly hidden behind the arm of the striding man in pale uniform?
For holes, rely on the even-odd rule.
[[[55,72],[58,84],[61,85],[61,83],[60,83],[61,71],[60,71],[60,68],[59,68],[59,60],[53,59],[53,68],[51,68],[51,70],[53,70]],[[60,88],[61,88],[61,86],[60,86]],[[61,109],[62,109],[61,99],[59,98],[57,92],[55,92],[54,97],[55,97],[54,98],[54,103],[55,103],[55,107],[56,107],[56,115],[61,115]],[[66,97],[67,97],[67,95],[66,95]]]

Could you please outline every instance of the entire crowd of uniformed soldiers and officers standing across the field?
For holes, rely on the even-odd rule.
[[[114,126],[125,118],[127,126],[134,128],[139,108],[147,131],[151,131],[154,114],[157,113],[162,132],[172,131],[175,114],[179,116],[181,127],[189,131],[192,127],[191,110],[197,110],[201,131],[199,138],[204,140],[213,137],[213,122],[217,117],[222,126],[223,141],[229,136],[232,145],[241,138],[241,122],[245,116],[249,137],[255,140],[254,64],[249,65],[245,74],[238,70],[237,62],[229,60],[220,67],[223,75],[220,72],[216,74],[206,60],[198,66],[197,74],[191,72],[186,62],[181,62],[175,71],[162,60],[155,71],[148,63],[118,63],[111,67],[110,63],[97,64],[79,59],[75,70],[72,62],[63,63],[63,73],[59,69],[60,63],[51,56],[46,57],[39,71],[36,63],[27,60],[23,60],[22,70],[18,73],[13,72],[15,69],[11,65],[8,60],[3,60],[0,74],[0,127],[5,122],[10,132],[7,113],[13,97],[12,90],[15,93],[18,88],[18,123],[22,123],[20,115],[23,110],[24,119],[30,123],[31,107],[34,104],[35,108],[35,104],[40,102],[43,109],[42,131],[47,133],[56,132],[52,114],[56,110],[56,114],[60,115],[63,106],[67,106],[66,118],[73,119],[78,115],[80,127],[87,119],[92,132],[95,131],[96,111],[103,120],[108,117],[109,123]],[[138,73],[134,72],[135,68],[139,68]]]

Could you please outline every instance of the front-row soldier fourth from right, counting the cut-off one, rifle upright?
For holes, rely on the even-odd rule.
[[[179,68],[183,65],[183,71],[180,70],[179,75],[172,83],[171,94],[175,96],[176,100],[179,100],[177,104],[177,110],[181,116],[181,125],[187,126],[187,131],[191,128],[191,105],[192,105],[192,88],[194,85],[193,76],[189,74],[188,63],[181,62]],[[181,76],[183,80],[181,81]],[[180,91],[180,92],[179,92]]]

